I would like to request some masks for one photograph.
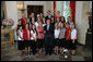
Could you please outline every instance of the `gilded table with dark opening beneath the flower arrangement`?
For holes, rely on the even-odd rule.
[[[14,44],[14,33],[12,29],[1,29],[1,45],[5,44]]]

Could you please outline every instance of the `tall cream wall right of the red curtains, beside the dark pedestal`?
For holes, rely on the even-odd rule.
[[[75,25],[78,28],[78,38],[79,42],[85,45],[85,35],[89,28],[89,11],[90,2],[89,1],[77,1],[75,4]]]

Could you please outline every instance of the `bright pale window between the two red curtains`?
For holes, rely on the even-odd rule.
[[[67,17],[70,16],[70,1],[56,1],[56,11],[60,11],[60,15],[65,16],[67,22]]]

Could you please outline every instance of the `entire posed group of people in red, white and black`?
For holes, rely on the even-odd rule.
[[[26,51],[26,55],[36,52],[42,53],[45,49],[45,54],[62,54],[63,49],[68,49],[69,53],[75,54],[77,48],[77,28],[68,16],[68,22],[65,17],[57,12],[57,16],[51,15],[51,12],[47,12],[47,16],[39,13],[39,16],[35,17],[34,12],[28,17],[22,14],[22,18],[19,20],[16,26],[18,35],[18,49],[23,54],[23,49]],[[59,51],[60,49],[60,51]]]

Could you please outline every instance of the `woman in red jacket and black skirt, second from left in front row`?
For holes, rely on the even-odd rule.
[[[23,30],[23,38],[25,44],[26,55],[30,54],[31,51],[31,33],[30,33],[28,24],[25,24],[25,29]]]

